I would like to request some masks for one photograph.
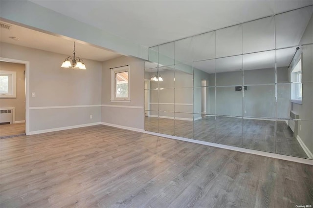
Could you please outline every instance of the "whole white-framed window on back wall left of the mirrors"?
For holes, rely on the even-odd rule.
[[[130,67],[111,69],[111,102],[130,102]]]

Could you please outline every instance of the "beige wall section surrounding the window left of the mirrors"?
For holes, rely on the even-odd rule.
[[[129,65],[131,68],[131,102],[111,102],[111,70],[110,68]],[[121,105],[125,107],[102,106],[101,121],[105,123],[144,129],[144,61],[132,57],[118,57],[102,62],[102,104]],[[142,107],[142,109],[128,106]]]

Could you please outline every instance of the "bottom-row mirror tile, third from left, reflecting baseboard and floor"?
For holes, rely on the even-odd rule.
[[[193,138],[193,115],[175,113],[175,136]]]

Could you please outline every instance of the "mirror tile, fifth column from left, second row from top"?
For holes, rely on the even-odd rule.
[[[242,55],[216,59],[216,86],[243,84]]]

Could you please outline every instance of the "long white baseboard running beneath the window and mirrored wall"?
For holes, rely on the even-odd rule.
[[[313,160],[305,159],[305,158],[298,158],[298,157],[281,155],[281,154],[276,154],[276,153],[271,153],[271,152],[263,152],[263,151],[254,150],[254,149],[246,149],[246,148],[242,148],[242,147],[228,146],[228,145],[216,144],[216,143],[211,143],[211,142],[204,142],[204,141],[194,140],[194,139],[187,139],[187,138],[178,137],[178,136],[171,136],[171,135],[167,135],[167,134],[160,134],[160,133],[156,133],[156,132],[145,131],[145,130],[140,129],[140,128],[133,128],[133,127],[123,126],[123,125],[115,125],[115,124],[104,123],[104,122],[101,122],[101,124],[102,125],[109,125],[109,126],[113,126],[113,127],[117,127],[117,128],[123,128],[123,129],[127,129],[127,130],[132,130],[132,131],[137,131],[137,132],[141,132],[141,133],[145,133],[145,134],[151,134],[151,135],[169,138],[169,139],[176,139],[176,140],[181,140],[181,141],[185,141],[185,142],[191,142],[191,143],[196,143],[196,144],[201,144],[201,145],[206,145],[206,146],[214,146],[214,147],[234,150],[234,151],[238,151],[238,152],[245,152],[245,153],[249,153],[249,154],[261,155],[261,156],[265,156],[265,157],[287,160],[287,161],[292,161],[292,162],[296,162],[296,163],[313,165]]]

